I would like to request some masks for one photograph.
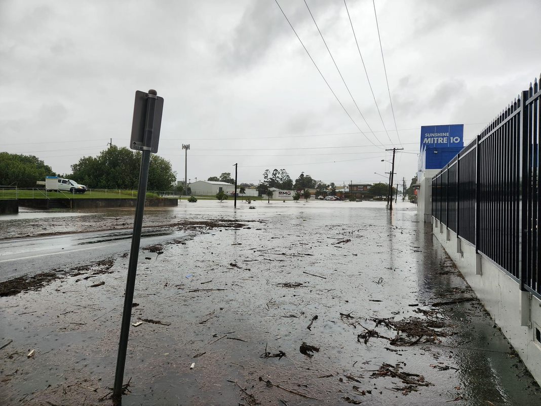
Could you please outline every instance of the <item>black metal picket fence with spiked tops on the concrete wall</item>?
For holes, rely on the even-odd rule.
[[[434,176],[432,215],[541,298],[539,83]]]

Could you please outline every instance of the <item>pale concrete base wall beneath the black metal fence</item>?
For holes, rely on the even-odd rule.
[[[494,322],[502,329],[537,382],[541,383],[541,346],[536,344],[536,327],[541,330],[541,301],[522,292],[519,284],[490,259],[476,254],[475,247],[432,218],[432,231],[460,272],[483,302]],[[458,249],[457,249],[458,248]],[[457,252],[461,251],[461,252]]]

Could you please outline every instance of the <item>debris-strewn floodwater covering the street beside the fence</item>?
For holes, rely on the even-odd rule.
[[[183,236],[143,245],[123,405],[541,404],[414,205],[252,204],[150,217]],[[0,404],[112,403],[128,253],[95,255],[0,297]]]

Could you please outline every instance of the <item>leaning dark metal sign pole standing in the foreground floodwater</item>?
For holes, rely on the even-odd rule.
[[[142,92],[140,92],[142,93]],[[137,93],[136,93],[137,97]],[[161,99],[161,98],[160,98]],[[146,94],[146,114],[141,114],[141,106],[137,104],[134,109],[134,124],[144,122],[139,131],[134,131],[137,127],[134,125],[132,133],[131,148],[141,150],[141,169],[139,172],[139,187],[137,189],[137,204],[135,208],[135,219],[133,235],[131,238],[130,259],[128,265],[128,278],[126,282],[126,294],[124,295],[124,310],[122,312],[122,325],[120,330],[120,340],[118,342],[118,356],[116,361],[115,384],[113,387],[113,399],[119,404],[122,397],[122,382],[124,379],[124,366],[126,365],[126,352],[128,349],[128,336],[130,331],[131,306],[133,304],[135,277],[137,274],[137,259],[139,256],[139,246],[141,243],[141,228],[143,225],[144,201],[147,194],[148,169],[150,167],[150,153],[157,150],[157,139],[160,135],[161,110],[163,99],[159,101],[156,109],[156,91],[149,90]],[[137,108],[139,107],[139,111]],[[157,110],[157,111],[156,111]],[[142,130],[142,131],[141,131]],[[156,133],[154,133],[156,130]],[[134,133],[137,133],[134,138]],[[134,140],[138,140],[135,141]],[[153,142],[154,141],[154,142]],[[153,147],[154,146],[154,147]]]

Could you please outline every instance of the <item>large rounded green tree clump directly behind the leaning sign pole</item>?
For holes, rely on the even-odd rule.
[[[140,167],[140,152],[113,145],[96,157],[84,156],[71,165],[70,178],[90,188],[136,189]],[[149,191],[169,191],[175,179],[176,173],[169,161],[154,154],[150,156]]]

